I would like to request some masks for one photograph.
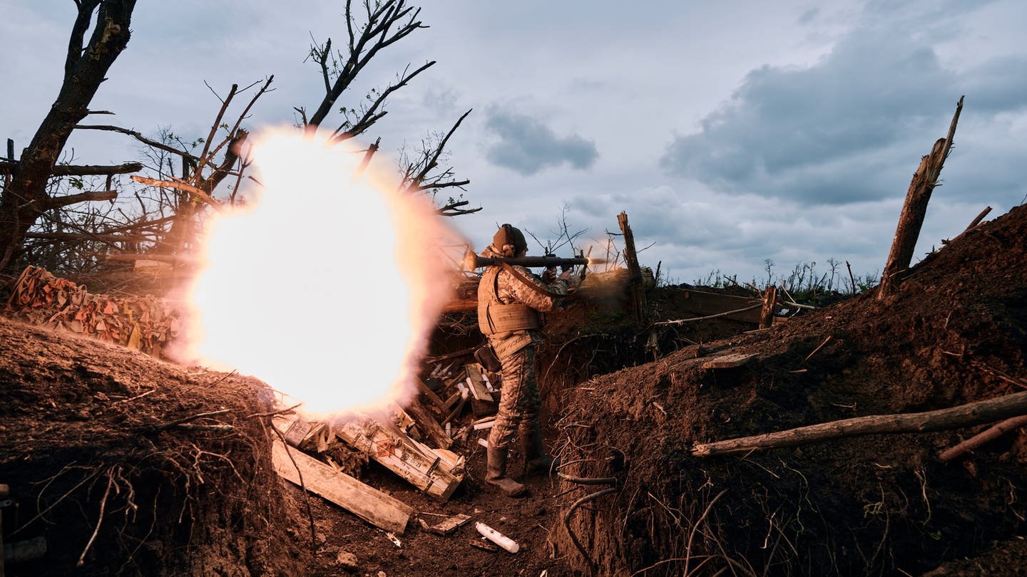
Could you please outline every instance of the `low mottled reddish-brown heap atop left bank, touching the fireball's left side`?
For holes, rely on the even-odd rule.
[[[64,330],[153,356],[179,331],[180,311],[159,297],[90,294],[85,285],[28,266],[7,299],[6,313],[30,324]]]

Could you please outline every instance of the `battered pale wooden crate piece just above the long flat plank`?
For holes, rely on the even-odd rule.
[[[398,427],[368,416],[352,419],[335,429],[339,438],[364,451],[385,468],[430,497],[445,501],[463,480],[462,463],[420,444]]]

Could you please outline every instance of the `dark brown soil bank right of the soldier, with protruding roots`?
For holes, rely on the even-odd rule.
[[[876,292],[773,329],[597,377],[558,423],[557,534],[599,574],[920,574],[1027,531],[1027,436],[942,463],[980,428],[874,435],[741,456],[694,444],[865,415],[944,409],[1027,388],[1027,207],[976,229]],[[738,368],[705,370],[727,353]],[[614,489],[598,494],[599,489]],[[580,543],[579,552],[578,545]],[[1023,547],[1006,547],[1024,566]],[[583,571],[582,571],[583,572]],[[999,573],[1001,574],[1001,573]]]

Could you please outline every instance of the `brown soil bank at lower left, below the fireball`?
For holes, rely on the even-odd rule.
[[[7,575],[302,574],[267,386],[0,318]]]

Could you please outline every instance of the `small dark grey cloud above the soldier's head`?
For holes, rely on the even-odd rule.
[[[564,163],[585,169],[599,158],[592,141],[576,133],[558,137],[545,124],[523,114],[490,111],[486,128],[498,138],[489,146],[486,158],[521,175],[534,175]]]

